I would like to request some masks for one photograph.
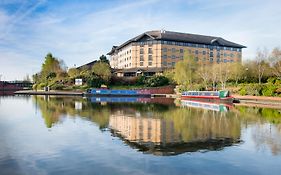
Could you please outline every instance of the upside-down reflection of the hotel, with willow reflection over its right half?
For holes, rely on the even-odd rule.
[[[109,127],[113,135],[146,153],[176,155],[240,142],[240,122],[214,111],[176,108],[161,117],[127,111],[113,112]]]

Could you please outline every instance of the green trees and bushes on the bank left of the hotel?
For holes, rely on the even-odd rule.
[[[82,79],[82,86],[75,86],[75,79]],[[109,84],[111,68],[104,55],[92,66],[70,68],[64,62],[48,53],[41,71],[33,75],[34,89],[50,87],[53,90],[85,90],[88,87],[100,87]]]

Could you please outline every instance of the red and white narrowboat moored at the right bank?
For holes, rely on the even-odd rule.
[[[208,101],[221,101],[232,103],[233,97],[229,91],[185,91],[181,95],[181,99],[207,99]]]

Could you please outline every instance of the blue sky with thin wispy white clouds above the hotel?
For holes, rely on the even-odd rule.
[[[47,53],[68,68],[98,59],[145,31],[222,37],[258,48],[281,46],[280,0],[0,0],[0,77],[39,72]]]

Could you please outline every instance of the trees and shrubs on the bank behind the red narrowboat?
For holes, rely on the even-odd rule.
[[[258,50],[254,60],[198,65],[185,56],[176,64],[174,80],[182,90],[230,89],[240,95],[281,96],[281,50]],[[224,61],[224,60],[221,60]]]

